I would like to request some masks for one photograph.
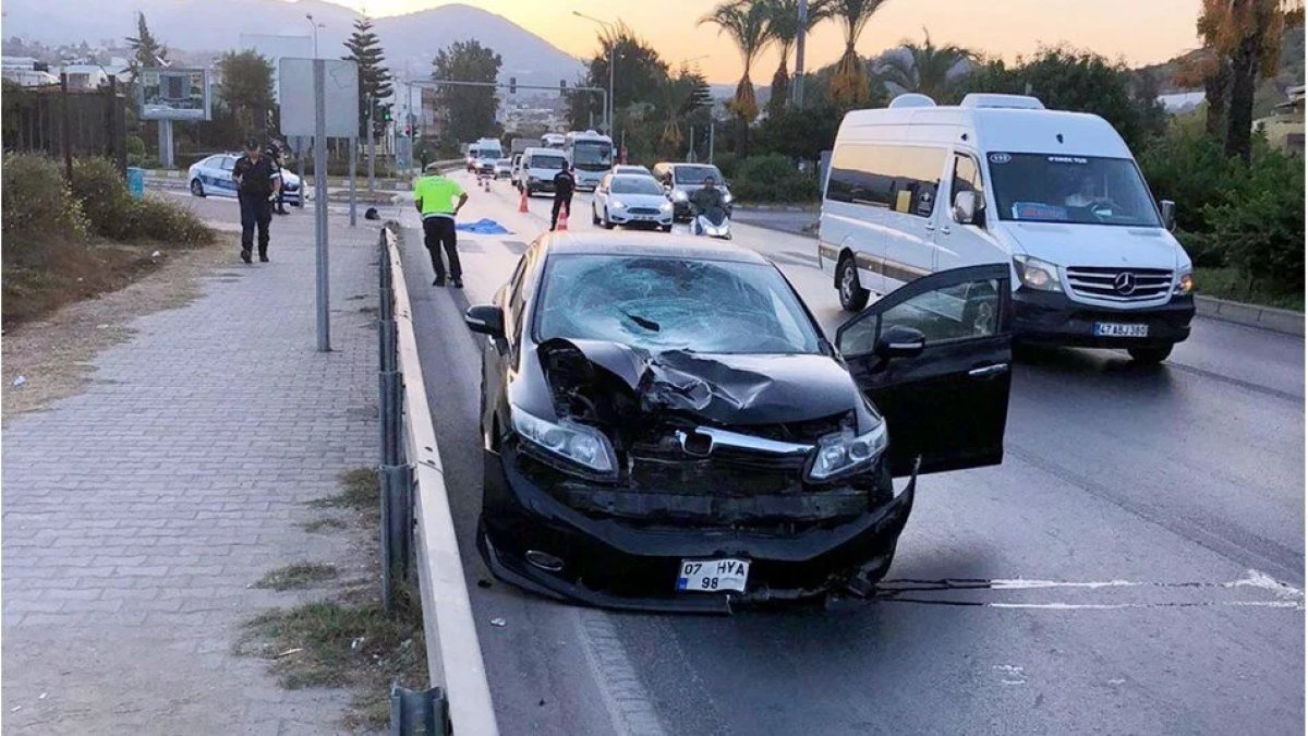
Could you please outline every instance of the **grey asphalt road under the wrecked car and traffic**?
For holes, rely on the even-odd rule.
[[[896,598],[613,614],[492,581],[473,547],[480,343],[462,312],[508,279],[548,200],[519,215],[505,182],[472,193],[462,219],[513,234],[460,234],[463,292],[428,285],[416,213],[388,213],[504,733],[1303,732],[1301,338],[1201,320],[1156,368],[1023,359],[1003,465],[918,483]],[[811,238],[735,234],[835,330]]]

